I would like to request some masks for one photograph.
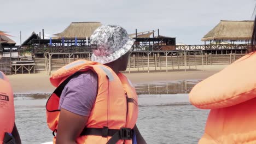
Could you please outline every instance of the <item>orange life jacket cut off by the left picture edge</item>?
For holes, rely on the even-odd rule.
[[[0,143],[3,143],[5,133],[11,133],[14,127],[13,90],[9,80],[0,71]]]

